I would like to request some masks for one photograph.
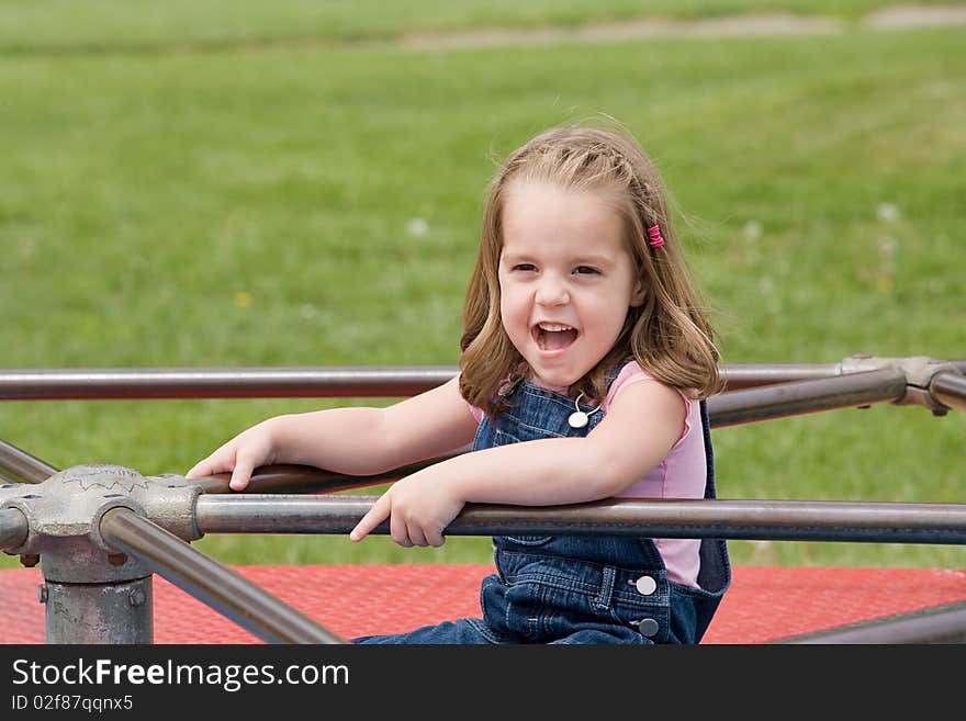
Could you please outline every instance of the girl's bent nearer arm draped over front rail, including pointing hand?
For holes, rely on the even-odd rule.
[[[465,503],[549,506],[614,496],[655,467],[677,442],[685,404],[674,388],[642,381],[624,388],[586,438],[501,446],[437,463],[403,478],[350,533],[360,540],[390,519],[402,545],[441,545]]]

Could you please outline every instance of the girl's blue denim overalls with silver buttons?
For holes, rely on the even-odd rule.
[[[508,401],[509,408],[495,421],[484,416],[473,450],[585,436],[604,415],[595,413],[584,428],[571,428],[568,418],[574,401],[528,381]],[[714,454],[704,401],[700,417],[708,467],[705,497],[714,498]],[[701,540],[700,588],[669,581],[648,538],[497,536],[493,544],[498,573],[483,579],[482,619],[361,636],[353,643],[697,643],[731,581],[721,539]]]

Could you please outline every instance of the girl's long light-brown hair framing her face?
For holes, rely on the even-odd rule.
[[[499,412],[497,386],[523,361],[503,328],[497,268],[503,248],[503,205],[512,181],[549,182],[562,190],[617,198],[636,272],[645,289],[630,307],[614,348],[571,392],[600,401],[607,373],[636,360],[659,381],[694,398],[721,387],[714,330],[701,308],[667,213],[663,183],[640,145],[620,131],[568,126],[546,131],[515,150],[490,185],[476,264],[463,304],[460,392],[487,414]],[[648,245],[661,227],[662,247]]]

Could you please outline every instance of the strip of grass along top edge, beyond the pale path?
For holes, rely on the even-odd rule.
[[[0,52],[169,50],[234,43],[340,43],[481,27],[574,26],[640,19],[704,20],[739,14],[824,15],[857,22],[869,13],[950,0],[353,0],[284,3],[232,0],[0,0]]]

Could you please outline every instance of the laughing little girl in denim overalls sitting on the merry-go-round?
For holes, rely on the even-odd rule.
[[[270,418],[189,477],[302,463],[401,478],[367,512],[403,547],[441,545],[467,503],[714,497],[705,398],[718,353],[661,180],[620,132],[563,127],[492,183],[463,308],[460,373],[386,408]],[[697,643],[730,583],[722,540],[496,537],[483,618],[357,643]]]

